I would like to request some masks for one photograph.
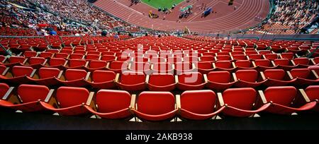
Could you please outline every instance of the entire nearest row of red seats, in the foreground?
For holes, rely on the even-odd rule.
[[[247,117],[264,112],[292,114],[318,112],[318,85],[305,90],[291,86],[231,88],[223,93],[212,90],[185,91],[174,96],[171,92],[141,92],[138,97],[122,90],[89,92],[85,88],[60,87],[50,90],[44,85],[20,85],[18,88],[0,83],[1,107],[22,112],[51,111],[63,116],[96,114],[104,119],[143,121],[181,119],[203,120],[213,116]],[[16,95],[12,94],[16,90]],[[16,104],[15,104],[16,103]]]

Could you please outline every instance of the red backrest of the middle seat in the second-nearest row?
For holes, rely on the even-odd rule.
[[[175,83],[175,79],[171,73],[153,73],[150,75],[150,80],[148,83],[157,86],[171,85]]]

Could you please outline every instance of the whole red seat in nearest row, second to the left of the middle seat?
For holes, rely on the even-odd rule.
[[[40,102],[45,109],[57,112],[60,115],[74,116],[89,113],[85,107],[91,105],[94,92],[89,92],[85,88],[60,87],[57,89],[56,99],[58,108],[46,102]]]

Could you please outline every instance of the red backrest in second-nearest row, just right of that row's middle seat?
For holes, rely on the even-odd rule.
[[[189,84],[189,85],[200,85],[203,83],[203,75],[198,72],[191,73],[181,73],[178,75],[179,83]]]

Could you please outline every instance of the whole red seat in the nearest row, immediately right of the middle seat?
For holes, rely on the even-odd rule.
[[[184,119],[210,119],[221,112],[225,107],[216,109],[217,96],[212,90],[189,90],[180,96],[180,113]],[[177,104],[179,105],[179,104]]]

